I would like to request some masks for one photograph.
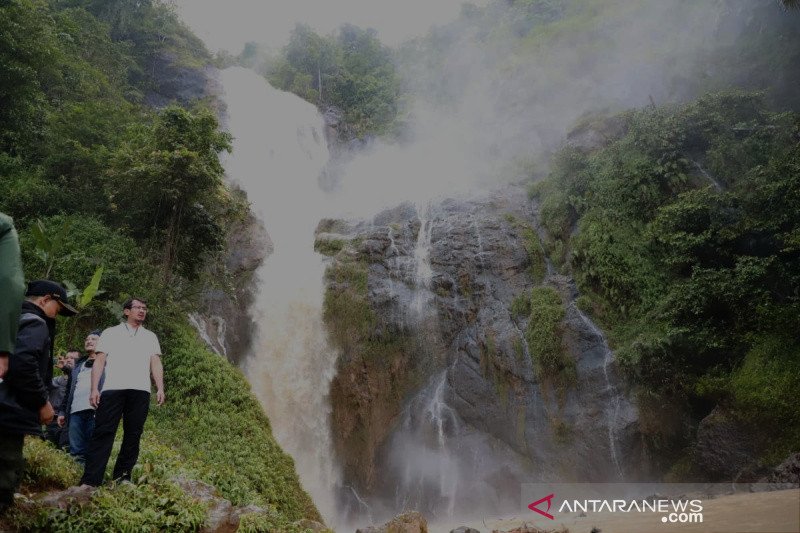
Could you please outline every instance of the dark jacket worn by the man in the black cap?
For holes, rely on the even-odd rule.
[[[41,434],[39,409],[53,379],[55,320],[31,302],[22,303],[14,353],[0,390],[0,428],[8,433]]]

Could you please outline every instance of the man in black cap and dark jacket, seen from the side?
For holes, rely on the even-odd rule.
[[[56,315],[77,313],[64,287],[49,280],[28,284],[14,352],[0,385],[0,514],[14,502],[22,476],[25,434],[41,435],[53,420],[48,384],[53,377]]]

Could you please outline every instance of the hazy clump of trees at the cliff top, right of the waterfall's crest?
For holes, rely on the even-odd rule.
[[[246,48],[243,55],[251,53]],[[391,51],[374,30],[345,24],[335,35],[321,36],[299,24],[281,57],[266,67],[266,76],[273,86],[322,109],[341,109],[356,137],[397,127],[400,82]]]

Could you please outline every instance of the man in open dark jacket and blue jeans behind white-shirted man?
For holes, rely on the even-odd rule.
[[[95,330],[86,336],[83,348],[86,355],[75,363],[64,401],[58,406],[58,425],[69,433],[69,453],[80,464],[86,463],[86,451],[94,432],[94,407],[89,401],[92,392],[92,367],[97,341],[101,331]],[[105,372],[100,376],[98,390],[103,390]]]

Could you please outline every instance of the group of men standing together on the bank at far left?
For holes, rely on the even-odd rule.
[[[16,235],[12,235],[11,243],[16,252],[9,251],[7,237],[13,226],[9,230],[3,217],[0,214],[0,259],[5,262],[6,258],[16,257],[18,264]],[[70,453],[85,465],[81,485],[89,487],[102,483],[122,421],[122,446],[113,479],[130,481],[150,407],[151,376],[158,404],[165,399],[161,347],[156,335],[143,326],[146,302],[141,298],[126,300],[122,323],[86,337],[86,355],[71,370],[60,405],[53,406],[48,393],[53,375],[55,319],[57,315],[74,316],[77,311],[58,283],[37,280],[25,289],[21,268],[2,270],[0,515],[13,504],[19,486],[24,468],[24,436],[41,435],[42,425],[51,424],[54,419],[59,426],[68,428]],[[23,290],[24,301],[20,304]]]

